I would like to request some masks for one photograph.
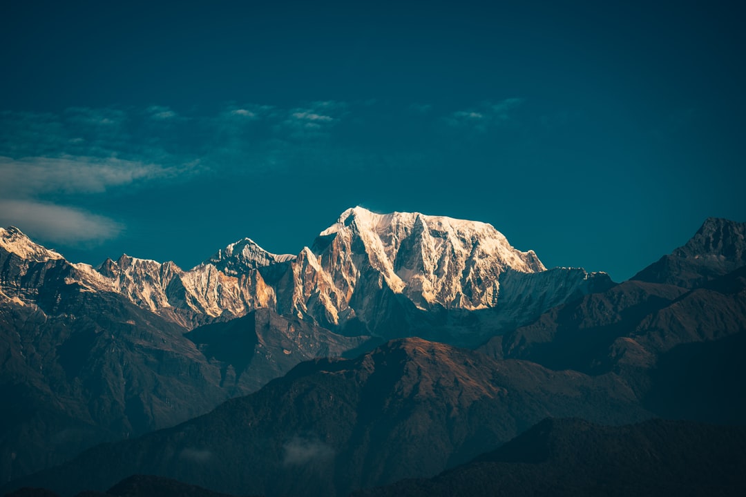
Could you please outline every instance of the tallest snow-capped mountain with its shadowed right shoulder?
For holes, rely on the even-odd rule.
[[[507,325],[612,285],[606,273],[547,270],[490,224],[362,207],[343,212],[289,266],[278,285],[280,314],[331,328],[354,321],[369,332],[392,301],[419,311],[499,309]]]

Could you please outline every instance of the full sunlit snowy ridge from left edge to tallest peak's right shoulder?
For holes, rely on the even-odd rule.
[[[62,259],[18,229],[0,235],[1,247],[22,259]],[[195,315],[241,316],[255,308],[330,329],[351,320],[373,326],[387,306],[398,305],[392,295],[423,311],[504,308],[520,321],[588,293],[594,281],[610,282],[604,273],[547,270],[533,250],[515,249],[490,224],[362,207],[343,212],[298,256],[269,253],[243,238],[190,270],[126,255],[95,270],[72,267],[70,281],[85,291],[115,291],[187,327]]]

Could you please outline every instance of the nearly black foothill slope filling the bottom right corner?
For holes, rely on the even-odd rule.
[[[650,420],[599,426],[544,420],[500,449],[430,480],[356,493],[388,496],[742,496],[746,428]]]

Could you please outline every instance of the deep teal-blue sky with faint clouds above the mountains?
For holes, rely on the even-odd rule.
[[[0,15],[0,224],[72,261],[298,253],[362,205],[619,281],[746,221],[733,2],[113,3]]]

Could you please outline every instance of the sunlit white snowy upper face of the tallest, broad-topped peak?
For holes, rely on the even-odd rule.
[[[351,259],[354,270],[333,256],[354,254],[354,246],[360,244],[366,257]],[[322,256],[323,268],[335,275],[348,273],[346,282],[351,283],[356,271],[363,273],[363,267],[370,266],[392,291],[406,294],[421,308],[433,304],[492,307],[499,292],[499,276],[505,270],[546,270],[533,250],[515,250],[490,224],[419,212],[380,215],[362,207],[348,209],[336,224],[321,232],[314,249]]]

